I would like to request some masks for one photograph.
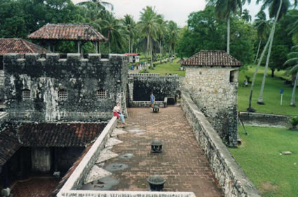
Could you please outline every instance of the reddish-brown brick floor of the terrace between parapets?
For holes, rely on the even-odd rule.
[[[128,165],[113,172],[119,184],[112,190],[148,191],[149,175],[166,179],[164,191],[194,191],[200,196],[223,196],[208,166],[203,151],[198,146],[187,119],[180,107],[162,108],[152,113],[151,108],[128,109],[128,134],[118,135],[112,151],[116,154],[133,154],[133,158],[112,158],[111,163]],[[151,154],[151,142],[163,142],[161,154]]]

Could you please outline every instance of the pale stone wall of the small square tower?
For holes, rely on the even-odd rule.
[[[238,68],[186,67],[182,89],[191,95],[224,143],[236,147]]]

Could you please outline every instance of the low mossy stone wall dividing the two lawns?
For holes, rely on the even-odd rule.
[[[245,125],[255,125],[264,127],[290,128],[291,116],[260,114],[250,112],[240,112],[241,120]]]

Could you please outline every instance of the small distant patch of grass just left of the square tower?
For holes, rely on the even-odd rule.
[[[179,58],[176,58],[171,64],[170,62],[158,64],[154,69],[149,69],[149,72],[159,73],[161,75],[177,73],[179,76],[185,76],[185,71],[179,70],[180,64],[177,63],[179,60]]]

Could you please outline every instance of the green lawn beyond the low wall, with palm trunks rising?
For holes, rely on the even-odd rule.
[[[248,96],[250,95],[250,84],[248,87],[242,87],[243,81],[245,81],[245,75],[250,76],[252,80],[255,67],[248,69],[248,71],[240,72],[239,74],[239,88],[238,88],[238,110],[246,111],[248,108]],[[274,78],[271,77],[271,71],[269,71],[266,77],[266,83],[264,88],[264,105],[257,104],[259,98],[259,90],[262,84],[262,77],[264,73],[264,67],[260,67],[257,73],[255,86],[252,94],[252,107],[256,109],[256,112],[266,114],[285,114],[285,115],[298,115],[298,107],[291,107],[290,100],[292,96],[292,87],[285,85],[283,80],[278,79],[279,76],[283,76],[284,72],[276,72]],[[283,105],[280,106],[280,88],[284,89],[283,93]],[[296,92],[298,93],[298,91]],[[297,100],[297,97],[296,97]],[[297,100],[298,102],[298,100]]]

